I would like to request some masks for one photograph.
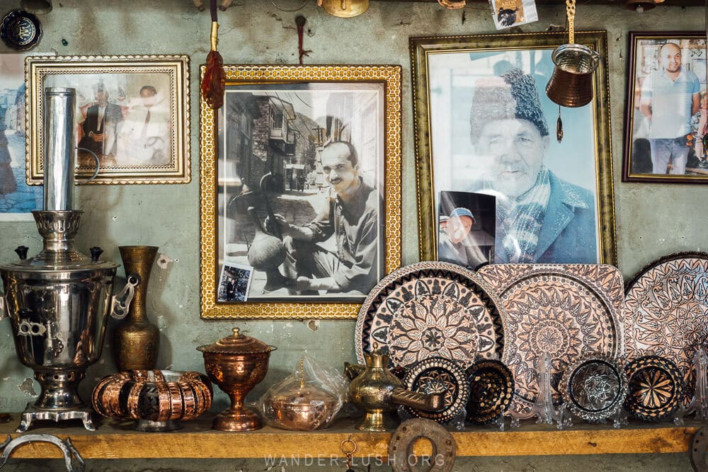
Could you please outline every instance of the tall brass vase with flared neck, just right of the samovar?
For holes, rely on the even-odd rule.
[[[160,347],[160,330],[147,319],[145,299],[157,246],[120,246],[126,274],[140,276],[135,297],[125,320],[113,334],[113,357],[118,371],[153,370]]]

